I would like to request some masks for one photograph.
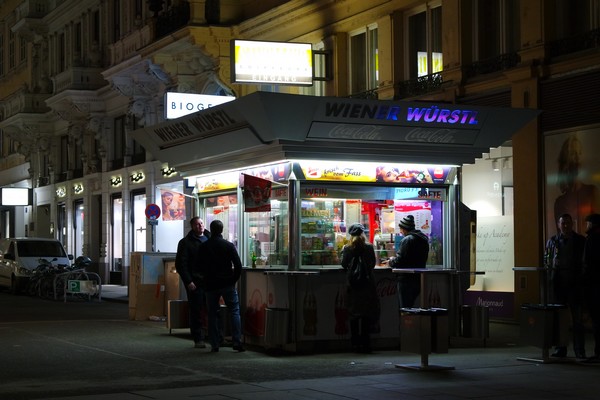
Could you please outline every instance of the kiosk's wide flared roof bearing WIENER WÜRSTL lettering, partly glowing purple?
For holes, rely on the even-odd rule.
[[[462,165],[540,111],[256,92],[133,132],[180,172],[282,159]]]

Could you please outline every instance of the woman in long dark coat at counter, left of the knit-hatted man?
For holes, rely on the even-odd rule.
[[[365,227],[353,224],[348,229],[350,243],[342,249],[342,267],[348,271],[348,311],[350,313],[350,343],[357,351],[371,351],[371,326],[380,314],[373,269],[375,249],[367,243]],[[355,282],[350,276],[355,262],[364,268],[364,281]],[[364,282],[364,283],[363,283]]]

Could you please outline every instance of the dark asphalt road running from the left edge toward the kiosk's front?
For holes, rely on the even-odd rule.
[[[282,355],[192,348],[186,330],[130,321],[128,305],[0,291],[0,398],[389,373],[398,352]]]

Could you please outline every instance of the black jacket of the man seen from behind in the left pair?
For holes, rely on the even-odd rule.
[[[222,235],[211,236],[200,246],[206,290],[233,286],[242,274],[242,261],[233,245]]]

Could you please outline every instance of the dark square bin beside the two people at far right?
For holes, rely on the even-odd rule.
[[[562,304],[523,304],[521,340],[540,348],[566,346],[569,342],[569,312]]]

